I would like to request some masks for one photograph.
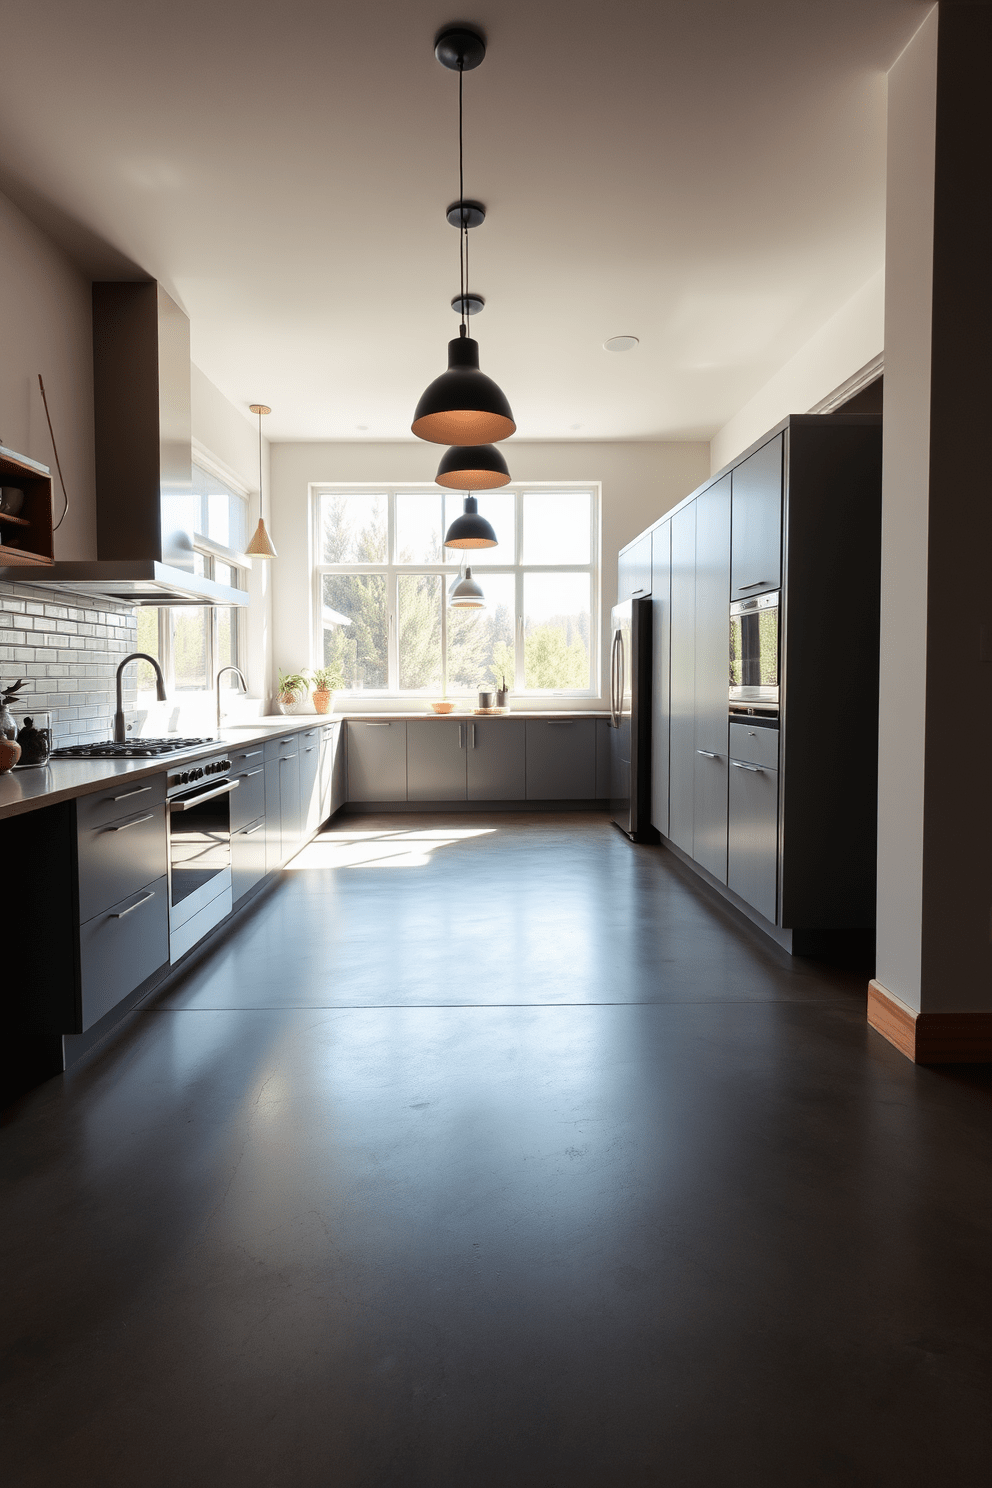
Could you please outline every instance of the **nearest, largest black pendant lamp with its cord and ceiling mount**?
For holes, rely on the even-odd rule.
[[[458,201],[448,208],[446,217],[458,228],[461,293],[452,305],[461,314],[461,326],[458,338],[448,342],[448,371],[424,391],[410,429],[418,439],[434,445],[488,445],[509,439],[516,424],[503,390],[479,369],[479,342],[468,335],[467,326],[467,314],[485,304],[480,296],[471,296],[467,286],[468,229],[485,222],[485,207],[466,201],[464,193],[463,80],[486,55],[486,43],[477,31],[451,27],[437,37],[434,55],[443,67],[458,73]]]

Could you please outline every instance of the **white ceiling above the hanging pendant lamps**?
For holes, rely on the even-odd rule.
[[[410,437],[457,333],[433,37],[471,19],[473,324],[519,436],[706,439],[880,268],[885,70],[928,9],[9,0],[0,186],[95,277],[159,278],[271,437]]]

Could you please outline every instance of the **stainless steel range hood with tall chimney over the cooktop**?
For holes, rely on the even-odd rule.
[[[140,604],[245,606],[195,571],[189,320],[161,284],[94,284],[97,561],[9,583]]]

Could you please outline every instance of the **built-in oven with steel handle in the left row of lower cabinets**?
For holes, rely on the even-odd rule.
[[[231,760],[225,754],[177,765],[168,777],[170,960],[180,957],[232,909]]]

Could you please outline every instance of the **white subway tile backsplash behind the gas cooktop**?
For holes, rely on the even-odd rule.
[[[0,684],[27,679],[15,705],[51,713],[57,744],[110,738],[116,670],[135,650],[137,631],[135,615],[117,606],[83,610],[27,583],[0,583]],[[128,668],[128,719],[135,699],[134,668]]]

